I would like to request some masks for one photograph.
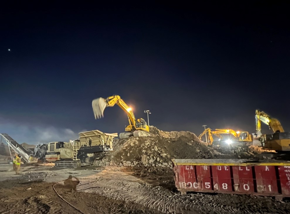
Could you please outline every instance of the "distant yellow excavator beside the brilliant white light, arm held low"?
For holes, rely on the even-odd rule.
[[[206,135],[208,139],[208,144],[213,144],[213,135],[217,136],[220,141],[223,141],[222,134],[230,134],[232,138],[228,138],[225,140],[225,143],[231,144],[233,142],[253,142],[252,135],[247,131],[234,131],[233,129],[215,129],[211,130],[211,128],[205,129],[200,135],[199,139],[202,140],[202,136]]]

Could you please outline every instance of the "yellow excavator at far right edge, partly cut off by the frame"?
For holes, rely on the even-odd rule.
[[[256,110],[256,135],[262,143],[262,147],[276,152],[290,151],[290,133],[284,129],[276,118],[271,118],[264,111]],[[271,133],[262,135],[261,121],[269,126]]]

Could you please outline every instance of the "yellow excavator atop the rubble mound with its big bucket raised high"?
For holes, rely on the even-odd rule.
[[[125,128],[125,133],[120,133],[120,139],[130,136],[147,137],[152,136],[149,132],[149,126],[143,118],[136,119],[132,108],[130,108],[119,95],[109,96],[107,98],[96,98],[92,101],[95,119],[104,117],[106,107],[113,107],[117,104],[128,116],[129,125]]]

